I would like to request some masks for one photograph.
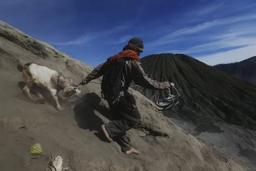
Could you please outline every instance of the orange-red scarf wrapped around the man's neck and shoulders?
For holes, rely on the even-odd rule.
[[[133,45],[126,45],[123,48],[123,51],[119,52],[116,55],[113,55],[112,57],[109,57],[107,59],[107,61],[103,64],[101,69],[103,69],[103,71],[107,71],[108,69],[111,68],[113,62],[115,62],[118,59],[121,59],[123,57],[126,57],[126,58],[129,58],[131,60],[135,60],[135,61],[141,62],[141,60],[139,59],[139,56],[137,54],[136,47],[134,47]]]

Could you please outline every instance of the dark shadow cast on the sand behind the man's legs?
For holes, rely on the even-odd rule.
[[[107,142],[107,138],[104,136],[101,125],[104,124],[103,120],[95,114],[95,110],[112,120],[111,112],[107,107],[101,106],[99,103],[101,102],[101,98],[95,94],[87,93],[79,100],[75,102],[74,113],[75,120],[79,128],[83,128],[85,130],[97,131],[95,132],[95,136],[97,136],[101,141]]]

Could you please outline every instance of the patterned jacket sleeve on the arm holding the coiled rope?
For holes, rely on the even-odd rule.
[[[165,86],[159,81],[150,79],[147,74],[145,74],[141,63],[138,61],[131,61],[131,76],[135,84],[143,86],[148,89],[161,90]]]

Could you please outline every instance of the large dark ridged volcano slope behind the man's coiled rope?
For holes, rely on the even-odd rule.
[[[179,90],[178,108],[167,110],[165,114],[196,126],[225,121],[256,130],[255,85],[183,54],[149,55],[143,57],[141,63],[149,77],[172,81]],[[153,102],[164,95],[159,90],[133,88]]]

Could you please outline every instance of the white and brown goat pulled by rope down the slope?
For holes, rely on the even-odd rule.
[[[63,110],[58,102],[57,94],[60,90],[63,90],[63,96],[73,99],[78,98],[82,95],[78,85],[73,83],[73,79],[67,79],[62,73],[49,69],[48,67],[38,65],[36,63],[26,63],[23,66],[23,78],[26,81],[26,85],[23,90],[28,97],[35,100],[30,94],[30,88],[33,85],[37,85],[40,88],[46,88],[50,91],[50,94],[56,102],[56,109]],[[44,100],[44,97],[39,93],[38,89],[35,89],[38,100]]]

